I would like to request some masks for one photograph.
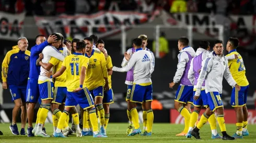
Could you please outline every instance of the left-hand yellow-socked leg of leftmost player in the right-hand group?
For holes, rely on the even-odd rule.
[[[190,113],[187,108],[183,106],[183,103],[174,101],[174,108],[184,117],[185,119],[185,127],[183,132],[177,134],[176,136],[185,136],[189,131],[189,121],[190,121]]]

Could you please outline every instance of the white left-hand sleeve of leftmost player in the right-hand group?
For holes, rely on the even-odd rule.
[[[186,63],[189,61],[189,56],[187,53],[182,52],[178,55],[178,65],[177,65],[177,71],[175,73],[175,76],[173,77],[173,82],[178,83],[183,75],[183,72],[185,70]]]

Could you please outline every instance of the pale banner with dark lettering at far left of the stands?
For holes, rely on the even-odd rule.
[[[0,38],[5,40],[17,40],[22,35],[26,12],[13,15],[0,12]]]

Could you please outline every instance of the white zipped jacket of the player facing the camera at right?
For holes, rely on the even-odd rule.
[[[228,60],[224,55],[217,56],[214,51],[203,60],[199,79],[196,85],[195,96],[200,96],[202,84],[205,80],[205,92],[218,92],[222,94],[223,76],[230,86],[237,83],[228,68]]]

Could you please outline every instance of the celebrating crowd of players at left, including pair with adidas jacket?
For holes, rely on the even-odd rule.
[[[9,88],[15,103],[9,127],[11,133],[26,135],[25,125],[28,120],[28,137],[50,137],[46,134],[44,123],[51,110],[53,137],[67,137],[73,130],[77,137],[107,137],[109,106],[114,102],[111,75],[113,71],[118,71],[127,72],[126,101],[130,120],[127,135],[134,136],[142,132],[136,110],[136,103],[139,102],[145,111],[141,135],[151,136],[154,115],[151,109],[153,88],[150,78],[155,59],[146,45],[146,35],[135,38],[133,48],[125,53],[122,68],[117,68],[113,67],[104,42],[96,35],[84,40],[75,38],[72,42],[64,40],[61,33],[51,34],[47,41],[43,35],[38,35],[31,52],[27,50],[27,38],[20,37],[18,45],[8,51],[2,64],[3,88]],[[33,110],[37,102],[40,108],[33,127]],[[19,133],[16,118],[20,108]],[[69,114],[72,115],[74,129],[68,126]]]

